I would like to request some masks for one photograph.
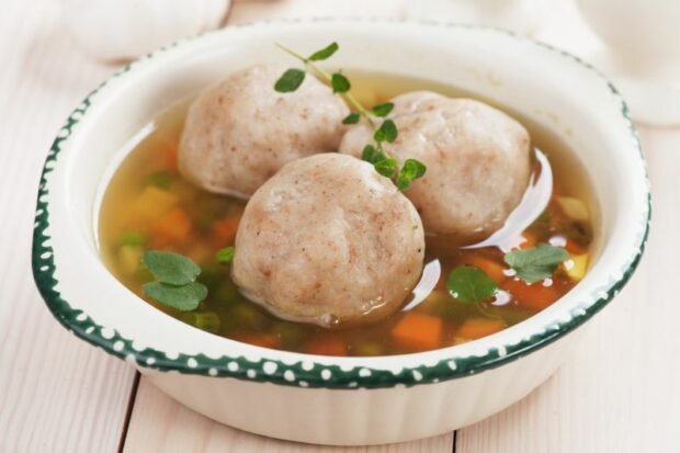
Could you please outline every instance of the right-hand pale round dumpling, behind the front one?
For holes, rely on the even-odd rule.
[[[385,150],[418,159],[424,177],[406,191],[428,233],[488,236],[519,204],[531,173],[530,139],[517,121],[481,102],[419,91],[393,99],[398,137]],[[371,129],[359,124],[340,151],[360,156]]]

